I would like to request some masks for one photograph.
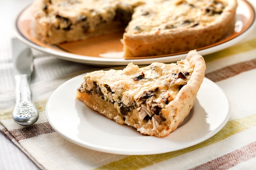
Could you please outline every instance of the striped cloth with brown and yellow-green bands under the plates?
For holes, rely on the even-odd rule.
[[[15,105],[12,63],[1,60],[0,130],[42,170],[189,169],[253,170],[256,167],[256,31],[225,50],[205,55],[205,77],[227,95],[231,117],[210,139],[157,155],[115,155],[83,148],[59,136],[49,125],[45,105],[53,91],[68,79],[98,69],[57,59],[38,51],[31,80],[33,100],[40,112],[36,124],[12,120]]]

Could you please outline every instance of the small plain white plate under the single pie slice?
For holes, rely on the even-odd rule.
[[[65,139],[101,152],[149,155],[180,150],[209,139],[229,119],[229,102],[222,90],[204,78],[186,123],[163,138],[141,135],[127,125],[95,112],[76,99],[83,75],[59,86],[49,98],[49,124]]]

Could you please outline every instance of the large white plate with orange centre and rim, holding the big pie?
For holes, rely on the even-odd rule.
[[[127,65],[151,64],[152,62],[175,62],[186,57],[188,51],[165,56],[123,58],[123,45],[120,42],[122,33],[115,33],[88,40],[65,43],[60,46],[49,46],[38,41],[31,33],[32,16],[30,7],[18,15],[16,20],[16,36],[28,46],[55,55],[64,60],[94,65]],[[243,40],[254,28],[255,11],[245,0],[238,0],[235,32],[223,40],[197,49],[201,55],[220,51]]]

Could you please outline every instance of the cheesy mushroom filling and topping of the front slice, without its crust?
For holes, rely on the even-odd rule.
[[[139,119],[157,113],[175,99],[193,72],[188,60],[173,64],[153,63],[139,68],[132,63],[124,70],[94,71],[84,77],[82,93],[98,95],[114,104],[121,115],[137,109]]]

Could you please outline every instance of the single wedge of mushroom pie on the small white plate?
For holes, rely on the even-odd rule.
[[[119,124],[164,137],[189,114],[205,69],[196,50],[177,63],[154,62],[142,68],[129,63],[123,70],[87,73],[76,97]]]

